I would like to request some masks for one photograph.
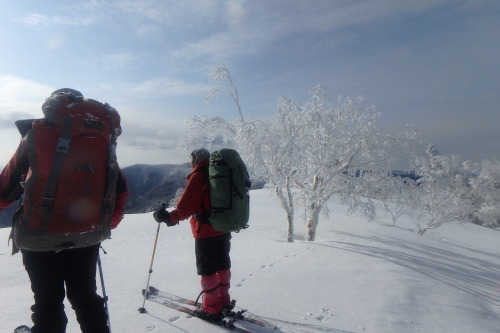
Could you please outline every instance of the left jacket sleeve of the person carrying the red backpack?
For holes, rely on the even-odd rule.
[[[22,194],[20,183],[26,176],[28,169],[28,155],[24,148],[24,140],[22,140],[0,174],[0,210],[19,199]]]

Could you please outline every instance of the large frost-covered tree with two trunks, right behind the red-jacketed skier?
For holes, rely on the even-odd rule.
[[[306,239],[314,241],[320,213],[328,213],[326,202],[333,195],[375,216],[371,193],[376,177],[387,173],[389,161],[408,148],[408,137],[389,136],[377,123],[379,112],[364,98],[339,98],[333,105],[320,85],[304,104],[279,98],[276,113],[264,120],[245,119],[238,92],[225,66],[214,69],[211,81],[217,87],[209,101],[229,89],[239,118],[194,117],[184,149],[210,147],[217,138],[239,150],[251,176],[273,188],[286,213],[287,240],[293,241],[294,193],[305,209]],[[406,145],[406,146],[405,146]]]

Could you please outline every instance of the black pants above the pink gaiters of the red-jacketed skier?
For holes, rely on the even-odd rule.
[[[231,234],[196,238],[196,268],[198,275],[210,276],[218,271],[231,268]]]

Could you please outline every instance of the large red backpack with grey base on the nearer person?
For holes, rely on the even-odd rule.
[[[111,235],[120,116],[108,104],[60,92],[27,132],[29,171],[14,244],[30,251],[87,247]]]

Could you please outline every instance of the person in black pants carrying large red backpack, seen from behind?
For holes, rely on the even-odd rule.
[[[109,333],[96,265],[128,196],[115,154],[120,117],[69,88],[54,91],[42,109],[44,118],[16,122],[23,138],[0,174],[0,210],[23,200],[11,238],[35,300],[31,330],[17,331],[66,332],[67,296],[83,333]]]

